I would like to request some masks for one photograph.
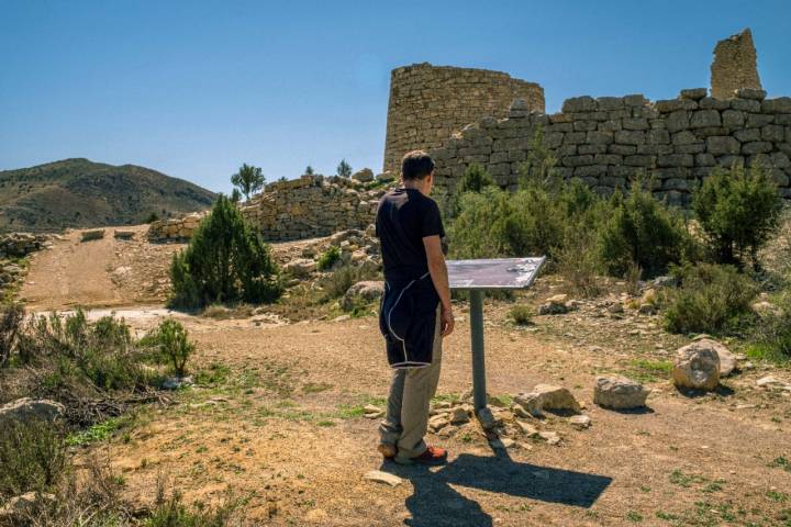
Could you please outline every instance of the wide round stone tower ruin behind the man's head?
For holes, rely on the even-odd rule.
[[[414,64],[392,70],[385,170],[400,171],[413,149],[438,147],[443,139],[484,116],[505,117],[514,99],[544,112],[544,89],[486,69]]]

